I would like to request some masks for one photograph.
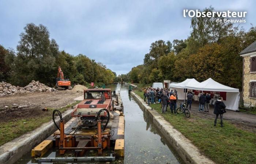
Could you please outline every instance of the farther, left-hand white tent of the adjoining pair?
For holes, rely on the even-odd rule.
[[[186,98],[186,93],[184,90],[187,88],[187,85],[192,85],[192,86],[197,86],[199,85],[200,82],[196,81],[194,78],[193,79],[186,79],[185,81],[182,81],[180,83],[171,83],[170,84],[170,90],[176,89],[177,90],[177,97],[178,99],[185,99]]]

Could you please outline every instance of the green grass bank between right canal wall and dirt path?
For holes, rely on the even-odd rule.
[[[143,92],[135,91],[140,97]],[[161,104],[152,104],[161,114]],[[185,118],[184,114],[161,114],[174,128],[193,142],[200,151],[215,163],[256,163],[256,134],[241,130],[224,120],[224,127],[219,124],[213,126],[211,119],[200,118],[191,115]],[[218,120],[219,121],[219,120]]]

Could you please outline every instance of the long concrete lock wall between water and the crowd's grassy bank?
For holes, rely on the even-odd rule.
[[[178,130],[174,129],[170,122],[167,122],[157,111],[151,110],[150,106],[144,102],[139,95],[131,92],[132,98],[137,102],[140,108],[153,119],[153,124],[157,126],[166,140],[178,153],[181,159],[187,164],[213,164],[214,162],[199,152],[199,149],[192,144]]]

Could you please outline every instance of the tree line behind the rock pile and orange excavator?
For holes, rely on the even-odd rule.
[[[0,81],[25,86],[35,80],[54,86],[59,66],[72,84],[108,85],[116,78],[116,73],[86,55],[74,56],[60,51],[42,24],[30,23],[24,27],[16,51],[0,45]]]

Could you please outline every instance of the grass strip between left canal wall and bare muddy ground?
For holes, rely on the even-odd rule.
[[[74,106],[78,104],[80,101],[76,101],[73,104],[67,105],[64,108],[60,108],[58,110],[63,113],[67,109],[71,108],[71,106]],[[17,119],[16,121],[10,121],[10,122],[4,122],[1,123],[0,126],[0,145],[5,144],[6,142],[9,142],[13,140],[16,137],[21,136],[22,134],[25,134],[27,132],[30,132],[42,124],[51,121],[52,119],[52,112],[53,108],[48,108],[48,112],[45,112],[44,117],[33,117],[33,118],[26,118],[26,119]]]

